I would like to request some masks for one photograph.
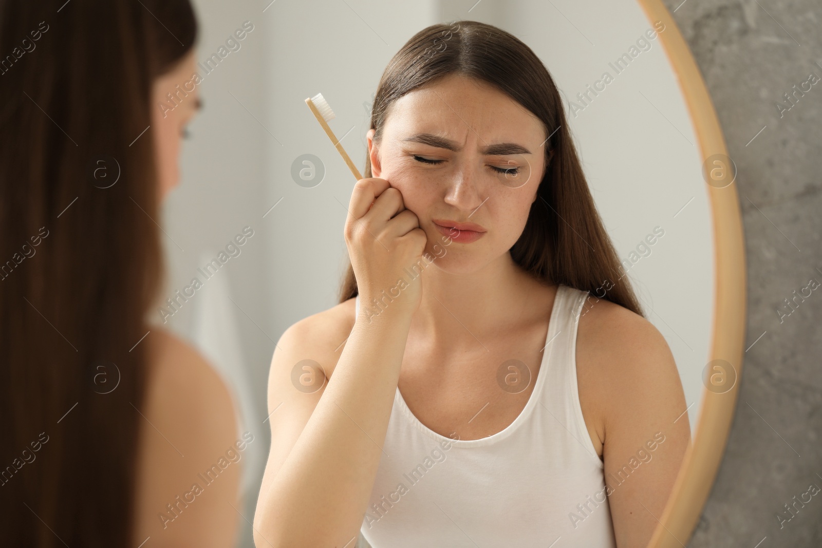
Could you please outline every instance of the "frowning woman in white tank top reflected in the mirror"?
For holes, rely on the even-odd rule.
[[[257,546],[645,546],[686,403],[543,64],[491,25],[432,25],[386,68],[367,143],[340,304],[272,359]]]

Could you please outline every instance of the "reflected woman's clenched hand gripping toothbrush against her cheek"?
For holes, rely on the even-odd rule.
[[[405,209],[402,193],[385,179],[360,179],[351,195],[344,237],[364,305],[361,310],[376,299],[381,304],[376,310],[372,306],[372,314],[413,314],[422,287],[419,276],[412,279],[405,269],[426,266],[422,256],[427,237],[417,215]],[[398,283],[400,279],[404,283]]]

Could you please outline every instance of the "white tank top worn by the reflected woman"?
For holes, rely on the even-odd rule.
[[[373,548],[617,546],[603,462],[576,384],[576,331],[586,297],[558,286],[533,392],[515,421],[494,435],[437,434],[396,390],[360,528]]]

